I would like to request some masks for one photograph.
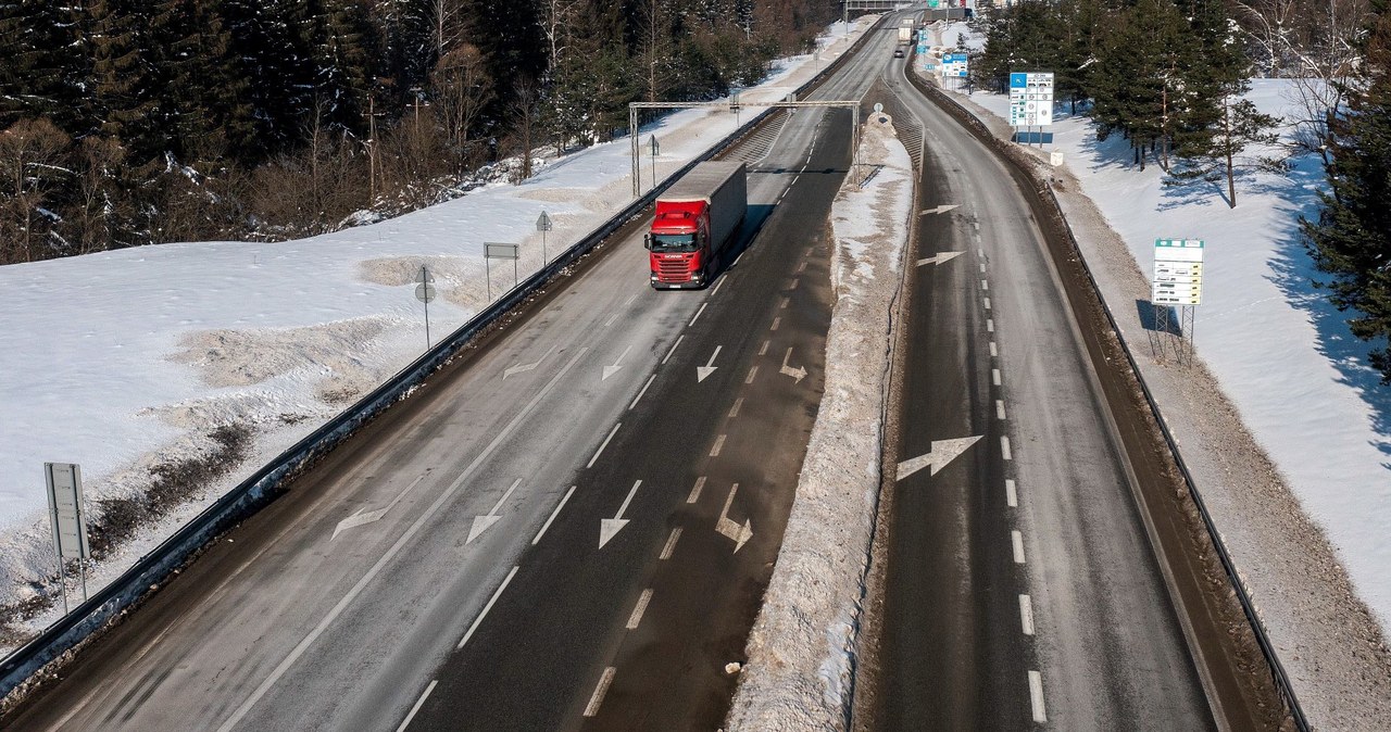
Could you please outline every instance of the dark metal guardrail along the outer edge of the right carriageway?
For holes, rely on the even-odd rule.
[[[974,114],[965,110],[954,99],[949,97],[940,89],[931,86],[917,75],[910,74],[910,82],[918,89],[924,90],[929,97],[938,100],[942,106],[951,106],[957,110],[953,114],[958,121],[963,121],[968,128],[971,128],[976,138],[982,138],[990,147],[995,147],[996,138],[989,131],[989,128],[981,122]],[[1017,167],[1018,163],[1010,156],[1000,156],[1006,164]],[[1021,169],[1025,176],[1031,181],[1034,176],[1027,169]],[[1038,183],[1035,183],[1038,185]],[[1063,206],[1057,200],[1057,194],[1053,192],[1053,186],[1042,186],[1042,190],[1047,190],[1049,199],[1053,201],[1053,208],[1057,211],[1059,219],[1063,222],[1067,231],[1068,240],[1072,243],[1072,250],[1078,253],[1077,261],[1081,263],[1082,271],[1086,274],[1086,281],[1091,282],[1092,289],[1097,293],[1097,301],[1102,306],[1102,313],[1106,314],[1106,322],[1110,324],[1111,332],[1116,333],[1116,340],[1121,346],[1121,351],[1125,354],[1125,363],[1129,364],[1131,371],[1135,374],[1135,381],[1139,382],[1141,393],[1145,396],[1145,403],[1149,406],[1150,414],[1159,424],[1160,433],[1164,435],[1164,443],[1168,446],[1170,454],[1174,457],[1174,463],[1178,465],[1178,472],[1184,476],[1184,485],[1188,488],[1188,494],[1193,499],[1193,504],[1198,507],[1198,514],[1203,519],[1203,526],[1207,529],[1207,536],[1212,539],[1213,549],[1217,550],[1217,557],[1221,561],[1223,571],[1227,574],[1227,581],[1232,590],[1237,593],[1237,600],[1241,604],[1242,614],[1246,617],[1246,622],[1251,625],[1252,635],[1256,638],[1256,644],[1260,646],[1260,654],[1264,656],[1266,664],[1270,667],[1270,676],[1276,685],[1276,692],[1280,693],[1281,700],[1285,704],[1285,711],[1288,711],[1291,721],[1294,721],[1295,728],[1299,732],[1309,732],[1309,719],[1305,717],[1303,708],[1299,706],[1299,699],[1295,696],[1294,685],[1289,682],[1289,674],[1285,672],[1284,664],[1280,663],[1280,657],[1276,653],[1274,644],[1270,642],[1270,636],[1266,635],[1266,625],[1262,622],[1259,613],[1256,611],[1256,604],[1251,599],[1251,593],[1246,592],[1246,583],[1241,579],[1237,572],[1237,563],[1231,558],[1231,553],[1227,551],[1227,543],[1223,542],[1221,533],[1217,531],[1217,524],[1213,521],[1210,513],[1207,513],[1207,504],[1203,501],[1202,492],[1198,489],[1198,482],[1193,479],[1192,472],[1188,469],[1188,464],[1184,461],[1184,454],[1178,449],[1178,440],[1174,439],[1174,433],[1168,429],[1168,422],[1164,419],[1163,411],[1159,408],[1159,401],[1155,400],[1153,392],[1149,389],[1149,383],[1145,381],[1143,372],[1139,369],[1139,363],[1135,360],[1135,354],[1131,351],[1129,343],[1121,333],[1120,324],[1116,321],[1116,315],[1111,313],[1110,306],[1106,299],[1100,296],[1100,286],[1096,282],[1096,276],[1092,274],[1092,267],[1086,263],[1086,258],[1081,254],[1081,247],[1077,243],[1077,233],[1072,232],[1071,222],[1063,215]]]

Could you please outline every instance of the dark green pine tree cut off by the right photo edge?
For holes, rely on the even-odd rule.
[[[1373,342],[1372,365],[1391,383],[1391,14],[1385,1],[1367,38],[1366,78],[1348,93],[1346,114],[1331,124],[1317,222],[1305,221],[1305,246],[1320,286],[1348,319],[1352,335]]]

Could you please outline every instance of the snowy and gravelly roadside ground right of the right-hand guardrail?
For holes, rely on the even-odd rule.
[[[954,44],[963,28],[940,38]],[[1249,97],[1289,118],[1288,89],[1256,79]],[[1008,136],[1007,97],[957,99]],[[1288,175],[1244,171],[1231,208],[1224,188],[1164,186],[1118,136],[1097,142],[1059,111],[1045,150],[1064,154],[1054,188],[1302,704],[1320,728],[1391,729],[1391,388],[1310,285],[1298,218],[1316,215],[1326,186],[1317,158]],[[1156,354],[1146,329],[1160,238],[1206,242],[1189,369]]]

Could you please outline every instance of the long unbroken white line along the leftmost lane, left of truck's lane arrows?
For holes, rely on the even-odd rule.
[[[260,701],[260,697],[266,696],[266,692],[268,692],[270,688],[274,686],[275,682],[278,682],[280,678],[284,676],[287,671],[289,671],[291,665],[295,665],[295,661],[298,661],[299,657],[303,656],[305,651],[309,649],[309,646],[313,644],[313,642],[317,640],[319,636],[321,636],[324,631],[328,629],[328,626],[338,618],[338,615],[341,615],[342,611],[353,600],[356,600],[359,594],[362,594],[362,590],[366,589],[373,579],[376,579],[377,574],[381,572],[383,567],[385,567],[392,558],[396,557],[396,554],[401,553],[402,547],[405,547],[406,543],[410,542],[410,539],[420,531],[420,528],[424,526],[427,521],[434,518],[437,513],[440,513],[440,507],[442,507],[445,503],[453,499],[453,494],[459,492],[459,489],[469,478],[473,476],[473,472],[479,469],[479,465],[481,465],[492,454],[492,451],[498,449],[499,444],[502,444],[508,438],[512,436],[512,432],[517,428],[517,425],[520,425],[522,421],[526,419],[531,414],[531,411],[536,410],[537,404],[540,404],[541,400],[545,399],[545,396],[551,393],[552,389],[555,389],[555,385],[559,383],[562,378],[565,378],[565,375],[570,371],[570,368],[573,368],[574,364],[577,364],[580,358],[583,358],[586,353],[588,353],[588,350],[590,350],[588,346],[581,347],[580,351],[574,354],[574,358],[570,358],[570,363],[565,364],[565,367],[561,368],[561,371],[558,371],[555,376],[551,376],[551,381],[548,381],[545,386],[542,386],[541,390],[537,392],[534,397],[531,397],[531,401],[527,401],[526,407],[522,407],[522,411],[519,411],[516,417],[513,417],[512,421],[508,422],[508,426],[498,431],[498,433],[492,438],[492,442],[490,442],[488,446],[484,447],[483,451],[473,458],[473,463],[469,463],[469,467],[466,467],[463,472],[460,472],[459,476],[455,478],[452,483],[449,483],[449,488],[447,488],[444,493],[440,493],[440,497],[435,499],[435,501],[430,504],[430,507],[426,508],[424,513],[420,514],[420,517],[416,518],[415,524],[412,524],[410,528],[406,529],[406,532],[402,533],[399,539],[396,539],[396,543],[391,544],[391,549],[388,549],[387,553],[377,560],[377,564],[373,564],[371,569],[367,569],[367,574],[364,574],[362,579],[359,579],[357,583],[353,585],[351,590],[348,590],[348,594],[344,594],[344,597],[338,600],[338,604],[335,604],[334,608],[330,610],[328,614],[324,615],[321,621],[319,621],[319,625],[316,625],[314,629],[310,631],[309,635],[306,635],[303,640],[300,640],[289,651],[289,654],[285,656],[285,658],[282,658],[280,664],[275,665],[275,668],[271,669],[268,675],[266,675],[264,679],[262,679],[260,686],[257,686],[256,690],[252,692],[252,694],[248,696],[246,700],[242,701],[242,704],[236,707],[235,711],[232,711],[232,715],[228,717],[227,721],[224,721],[221,726],[217,728],[218,732],[230,732],[234,726],[236,726],[238,722],[242,721],[243,717],[246,717],[246,713],[249,713],[252,707],[255,707],[256,703]],[[513,567],[512,571],[516,572],[516,568]],[[508,576],[510,578],[512,575]]]

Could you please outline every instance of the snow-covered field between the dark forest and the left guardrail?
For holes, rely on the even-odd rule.
[[[832,25],[819,58],[775,64],[746,100],[773,100],[843,53],[874,17]],[[747,121],[747,115],[746,115]],[[672,114],[643,129],[669,175],[734,129],[726,110]],[[218,425],[255,432],[252,454],[95,569],[117,576],[221,493],[312,432],[426,347],[415,299],[421,265],[440,299],[435,339],[513,282],[485,274],[484,242],[522,246],[519,276],[632,200],[627,139],[541,161],[522,185],[492,185],[370,226],[284,243],[185,243],[0,267],[0,607],[56,572],[43,463],[82,465],[89,508],[143,493],[150,468],[211,450]],[[648,179],[650,158],[643,161]],[[70,578],[71,579],[71,578]],[[32,622],[38,631],[50,610]],[[8,649],[0,643],[0,654]]]

